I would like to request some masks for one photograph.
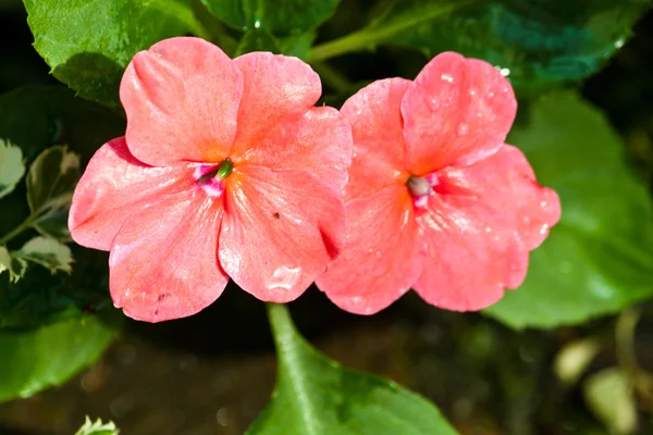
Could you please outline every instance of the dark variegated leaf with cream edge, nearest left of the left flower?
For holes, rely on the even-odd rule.
[[[62,215],[67,215],[81,176],[79,156],[65,146],[50,147],[34,160],[27,174],[27,203],[37,216],[32,226],[40,234],[70,239]]]

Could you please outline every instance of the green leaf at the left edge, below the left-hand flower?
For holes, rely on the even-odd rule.
[[[60,385],[96,361],[115,337],[116,313],[0,331],[0,402]]]

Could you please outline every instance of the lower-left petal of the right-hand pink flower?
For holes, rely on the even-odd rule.
[[[412,199],[390,186],[347,203],[349,229],[341,254],[317,279],[336,306],[373,314],[404,295],[422,270]]]

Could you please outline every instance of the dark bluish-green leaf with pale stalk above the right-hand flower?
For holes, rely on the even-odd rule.
[[[382,1],[369,27],[346,46],[399,45],[429,57],[457,51],[496,65],[526,90],[597,71],[650,5],[642,0]],[[347,48],[333,45],[317,48],[313,55]]]

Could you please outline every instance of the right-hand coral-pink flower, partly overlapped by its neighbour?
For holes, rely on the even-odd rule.
[[[434,58],[415,82],[375,82],[345,102],[349,229],[317,279],[333,302],[371,314],[412,287],[436,307],[480,310],[522,283],[529,250],[560,208],[504,144],[516,110],[494,67],[456,53]]]

